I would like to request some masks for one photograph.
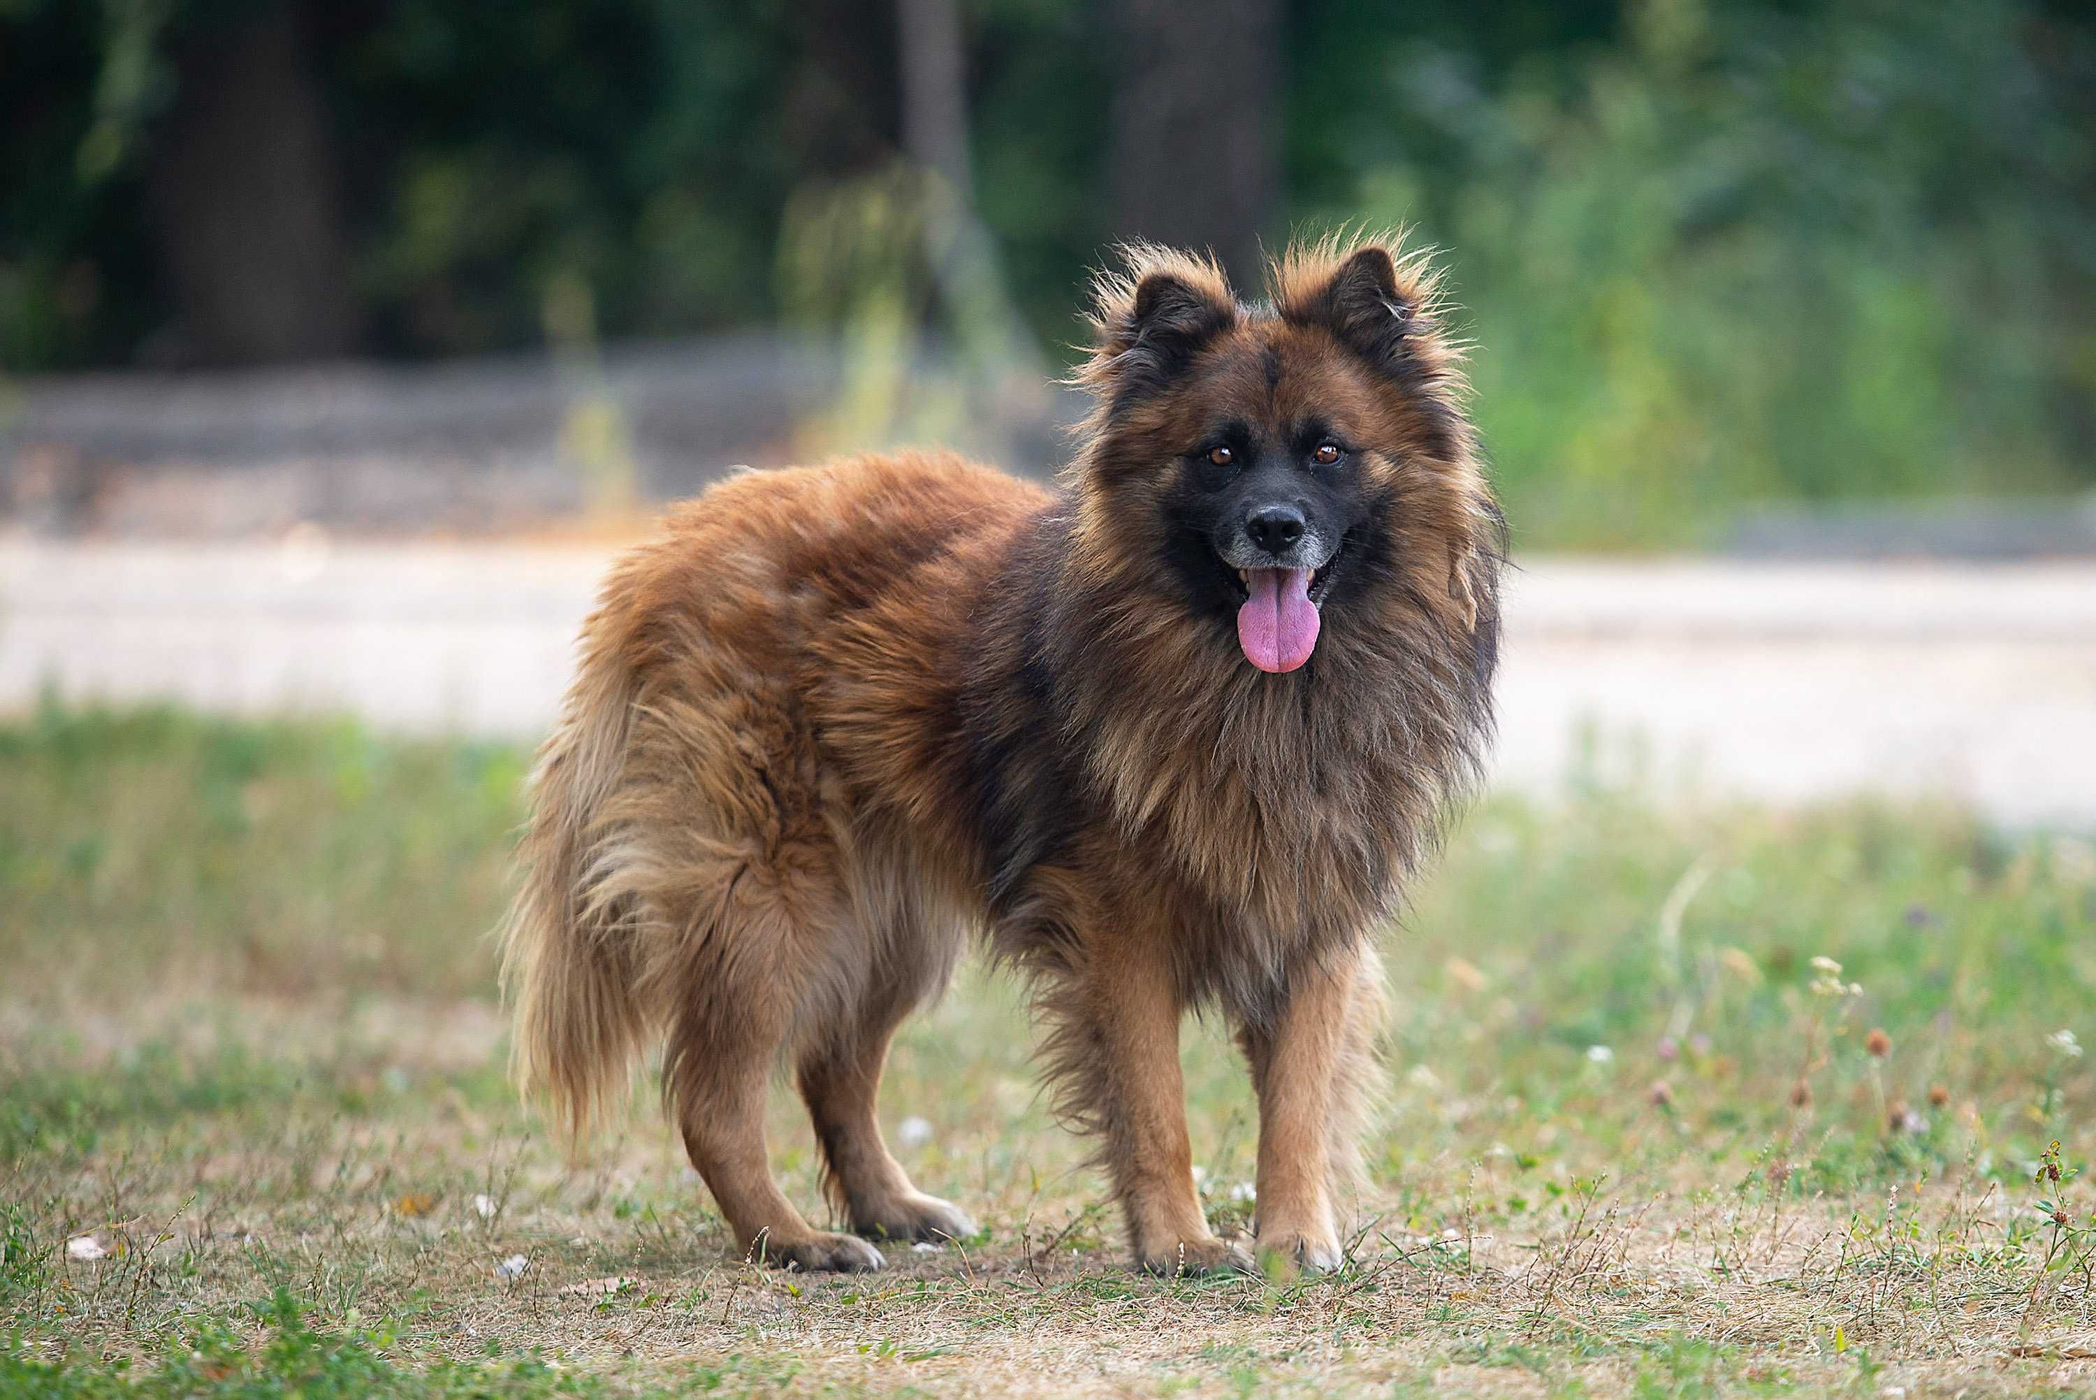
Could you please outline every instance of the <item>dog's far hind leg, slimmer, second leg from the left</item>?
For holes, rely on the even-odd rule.
[[[918,1190],[880,1138],[876,1096],[895,1027],[916,1004],[901,979],[870,989],[817,1029],[801,1050],[801,1096],[815,1121],[832,1201],[859,1234],[897,1241],[949,1241],[975,1234],[952,1201]]]

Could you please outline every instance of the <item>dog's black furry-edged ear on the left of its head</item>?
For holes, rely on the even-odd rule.
[[[1147,243],[1121,251],[1128,270],[1092,285],[1092,358],[1079,371],[1115,400],[1165,388],[1237,325],[1237,296],[1211,260]]]

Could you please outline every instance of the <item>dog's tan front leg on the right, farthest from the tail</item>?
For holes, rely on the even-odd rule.
[[[1239,1037],[1260,1096],[1260,1253],[1320,1272],[1341,1257],[1333,1178],[1354,1149],[1339,1136],[1356,1130],[1379,1002],[1373,968],[1367,949],[1306,968],[1264,1025]]]

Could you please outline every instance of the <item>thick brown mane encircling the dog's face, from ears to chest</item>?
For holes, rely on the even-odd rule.
[[[1048,629],[1063,723],[1126,838],[1170,851],[1218,918],[1270,939],[1346,937],[1392,910],[1476,788],[1492,734],[1505,526],[1463,413],[1463,348],[1442,329],[1423,251],[1390,256],[1373,239],[1289,249],[1270,266],[1270,308],[1241,306],[1209,260],[1144,245],[1126,258],[1094,287],[1098,340],[1075,377],[1096,404],[1069,476],[1082,524]],[[1260,675],[1226,633],[1161,608],[1149,560],[1088,478],[1155,407],[1155,384],[1132,400],[1128,373],[1157,340],[1144,325],[1157,298],[1142,298],[1157,279],[1191,293],[1165,304],[1172,333],[1323,329],[1333,354],[1346,348],[1388,384],[1377,551],[1297,677]],[[1214,325],[1199,325],[1203,306]]]

